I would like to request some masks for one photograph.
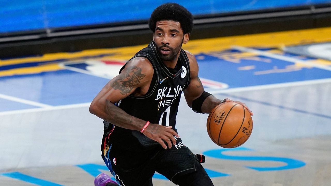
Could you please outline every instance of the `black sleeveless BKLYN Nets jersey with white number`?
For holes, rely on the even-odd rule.
[[[180,51],[177,72],[172,72],[164,65],[153,41],[132,58],[134,57],[145,57],[153,65],[154,75],[149,91],[143,96],[129,95],[116,105],[132,116],[150,123],[172,126],[175,130],[181,93],[190,84],[190,64],[186,52],[183,49]],[[104,124],[105,134],[112,144],[120,148],[143,151],[161,146],[140,131],[124,129],[106,121]]]

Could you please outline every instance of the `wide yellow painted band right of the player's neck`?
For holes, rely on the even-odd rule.
[[[328,41],[331,41],[331,27],[193,40],[183,48],[193,54],[199,54],[226,50],[233,45],[281,48]]]

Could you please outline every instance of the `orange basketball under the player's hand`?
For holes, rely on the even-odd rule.
[[[209,137],[224,148],[235,148],[244,144],[252,129],[251,114],[244,106],[235,102],[217,105],[207,119]]]

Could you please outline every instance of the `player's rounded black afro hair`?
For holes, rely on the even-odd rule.
[[[193,16],[183,6],[177,3],[165,3],[157,7],[148,21],[148,27],[155,32],[156,22],[160,20],[172,20],[180,22],[183,33],[191,33],[193,29]]]

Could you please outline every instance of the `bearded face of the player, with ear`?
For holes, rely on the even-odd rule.
[[[182,44],[186,44],[189,34],[183,34],[179,22],[162,20],[156,22],[154,41],[163,61],[173,61],[179,56]]]

